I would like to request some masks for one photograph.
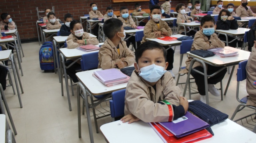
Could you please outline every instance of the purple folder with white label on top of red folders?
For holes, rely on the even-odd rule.
[[[191,133],[197,132],[209,126],[209,124],[195,117],[190,112],[187,112],[184,116],[179,119],[180,121],[183,119],[186,119],[186,120],[183,120],[178,123],[175,123],[176,120],[173,122],[159,122],[159,123],[163,127],[165,127],[167,130],[169,130],[171,133],[173,133],[176,137],[189,135]]]

